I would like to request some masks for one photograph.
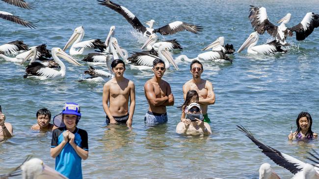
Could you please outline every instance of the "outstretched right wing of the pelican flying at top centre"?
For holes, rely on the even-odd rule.
[[[197,34],[197,32],[202,31],[203,27],[200,25],[193,25],[190,23],[185,23],[182,21],[175,21],[171,22],[167,25],[164,25],[158,29],[155,29],[154,32],[159,32],[162,35],[171,35],[175,34],[177,32],[181,32],[183,30],[187,30],[189,32],[192,32],[194,34]]]

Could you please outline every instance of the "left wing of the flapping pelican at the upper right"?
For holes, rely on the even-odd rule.
[[[255,7],[251,5],[248,16],[252,27],[259,34],[264,34],[267,31],[272,37],[276,37],[278,26],[269,22],[265,7]]]

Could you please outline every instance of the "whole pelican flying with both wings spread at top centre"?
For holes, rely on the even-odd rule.
[[[110,0],[98,0],[101,5],[104,5],[106,7],[109,7],[113,9],[114,11],[121,14],[131,25],[134,29],[136,29],[138,32],[143,33],[145,36],[150,36],[153,33],[160,33],[162,35],[171,35],[175,34],[180,31],[190,31],[192,33],[197,34],[197,32],[201,31],[202,27],[199,25],[193,25],[182,21],[175,21],[171,22],[167,25],[164,25],[158,29],[153,28],[154,20],[148,24],[150,24],[149,27],[145,27],[138,19],[135,17],[135,15],[126,7],[121,6],[119,4],[116,4]]]

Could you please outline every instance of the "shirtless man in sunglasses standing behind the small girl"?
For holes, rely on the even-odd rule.
[[[207,114],[208,105],[215,103],[215,93],[211,82],[201,79],[203,73],[203,64],[198,60],[193,60],[190,64],[190,73],[193,75],[193,79],[187,81],[183,86],[184,99],[186,98],[187,91],[196,90],[199,96],[198,103],[201,106],[204,114],[204,122],[209,123],[210,118]],[[184,122],[184,121],[183,121]]]

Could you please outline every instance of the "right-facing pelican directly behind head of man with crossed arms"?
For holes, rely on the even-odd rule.
[[[168,51],[167,47],[160,45],[158,56],[152,55],[150,53],[152,52],[151,51],[135,52],[135,54],[129,57],[128,61],[131,62],[131,65],[130,65],[131,69],[134,69],[134,68],[139,70],[152,69],[153,61],[157,58],[160,58],[161,60],[164,61],[166,68],[169,68],[170,66],[169,63],[171,63],[173,64],[175,69],[178,70],[178,66],[175,63],[171,53]]]

